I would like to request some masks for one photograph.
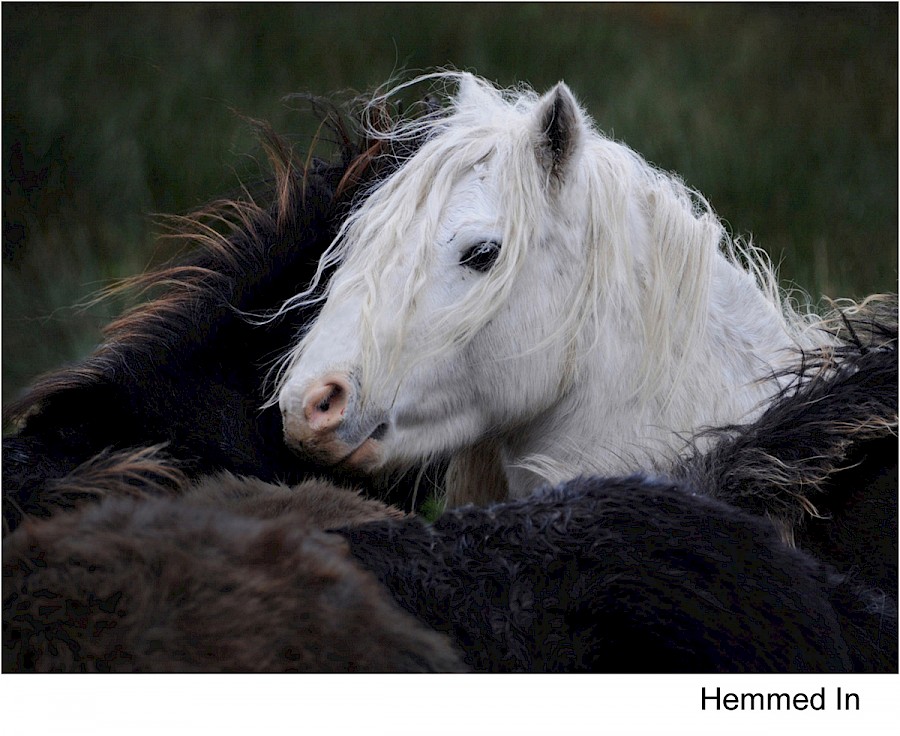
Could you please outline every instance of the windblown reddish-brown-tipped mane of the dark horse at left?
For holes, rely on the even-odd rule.
[[[248,250],[265,249],[266,240],[273,235],[276,238],[289,235],[295,213],[305,202],[310,179],[338,167],[344,169],[334,188],[334,197],[340,199],[351,197],[355,187],[373,173],[381,143],[354,143],[346,129],[347,123],[336,114],[330,118],[337,121],[330,127],[340,133],[339,164],[312,158],[312,151],[320,142],[318,137],[305,160],[298,161],[294,148],[268,123],[248,119],[270,166],[271,179],[264,192],[254,196],[243,188],[241,198],[215,200],[188,215],[161,217],[160,222],[169,231],[161,237],[180,241],[182,252],[192,252],[192,255],[184,262],[128,277],[100,292],[89,303],[123,294],[132,299],[152,294],[152,298],[110,322],[103,329],[103,343],[87,360],[39,377],[24,396],[4,409],[4,421],[21,423],[49,396],[102,380],[109,361],[115,361],[123,348],[134,348],[145,341],[167,344],[174,337],[167,327],[182,320],[186,312],[197,309],[205,300],[211,298],[239,308],[234,303],[237,295],[233,280],[235,272],[244,265],[242,259],[246,259]]]

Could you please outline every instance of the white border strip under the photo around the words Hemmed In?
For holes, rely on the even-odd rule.
[[[7,733],[715,734],[900,723],[898,675],[4,675]],[[859,694],[858,712],[702,711],[701,688]],[[13,730],[15,728],[16,730]],[[761,730],[762,729],[762,730]]]

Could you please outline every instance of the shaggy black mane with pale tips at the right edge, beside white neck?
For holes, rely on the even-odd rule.
[[[767,517],[786,542],[897,598],[897,300],[841,311],[755,422],[702,433],[676,477]]]

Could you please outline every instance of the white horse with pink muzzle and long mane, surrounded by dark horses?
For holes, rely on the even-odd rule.
[[[288,443],[366,471],[450,456],[451,504],[518,497],[665,465],[827,340],[565,84],[432,76],[458,83],[450,104],[386,134],[424,142],[345,221],[324,294],[284,306],[325,299],[281,366]]]

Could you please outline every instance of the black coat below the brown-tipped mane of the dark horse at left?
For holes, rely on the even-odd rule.
[[[114,324],[94,355],[40,379],[21,407],[12,407],[25,420],[16,437],[4,440],[9,527],[22,513],[46,512],[47,479],[110,448],[164,443],[191,475],[304,477],[306,468],[281,439],[277,407],[260,406],[269,361],[309,315],[255,327],[237,310],[271,308],[306,285],[333,233],[333,190],[342,171],[311,172],[303,204],[286,210],[289,221],[276,224],[258,213],[257,229],[233,239],[230,258],[207,251],[188,264],[208,272],[203,289],[176,291]]]

